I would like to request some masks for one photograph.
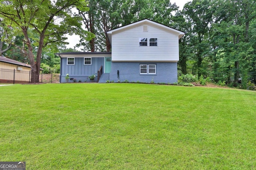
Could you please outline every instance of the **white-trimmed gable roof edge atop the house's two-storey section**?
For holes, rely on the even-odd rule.
[[[140,25],[151,25],[153,27],[158,27],[159,29],[163,29],[163,30],[165,30],[167,32],[173,33],[174,35],[178,35],[179,39],[183,35],[185,35],[184,32],[179,31],[178,29],[174,29],[172,27],[168,27],[166,25],[163,25],[162,23],[158,23],[158,22],[155,22],[155,21],[152,21],[152,20],[144,19],[144,20],[140,20],[140,21],[137,21],[137,22],[134,22],[134,23],[130,23],[128,25],[124,25],[122,27],[118,27],[116,29],[112,29],[110,31],[107,31],[107,35],[108,35],[108,39],[110,41],[110,44],[112,44],[112,34],[119,33],[119,32],[125,31],[127,29],[134,28],[134,27],[138,27]]]

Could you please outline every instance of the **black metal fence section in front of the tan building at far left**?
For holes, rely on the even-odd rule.
[[[0,84],[23,84],[30,82],[30,71],[0,68]]]

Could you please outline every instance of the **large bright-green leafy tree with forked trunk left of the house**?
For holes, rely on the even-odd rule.
[[[27,50],[23,51],[30,60],[31,82],[39,82],[42,50],[46,45],[63,43],[66,33],[87,34],[81,28],[81,18],[72,16],[72,8],[86,11],[84,0],[0,0],[0,15],[6,23],[18,27],[24,35]],[[33,52],[36,52],[34,59]]]

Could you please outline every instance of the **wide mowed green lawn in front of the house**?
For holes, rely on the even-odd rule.
[[[152,84],[0,87],[0,161],[28,170],[256,168],[256,92]]]

